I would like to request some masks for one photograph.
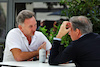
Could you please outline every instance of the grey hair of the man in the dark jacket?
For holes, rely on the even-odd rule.
[[[93,31],[93,24],[85,16],[73,16],[69,21],[72,23],[73,30],[78,28],[81,31],[81,34],[87,34]]]

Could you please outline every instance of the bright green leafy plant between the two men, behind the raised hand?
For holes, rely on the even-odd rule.
[[[48,40],[51,43],[53,43],[53,38],[56,37],[56,35],[58,34],[60,26],[61,26],[61,24],[58,24],[58,26],[55,25],[56,29],[52,27],[49,31],[50,32],[49,35],[47,33],[46,26],[44,26],[43,28],[41,27],[40,31],[48,38]],[[54,31],[54,29],[55,29],[55,31]],[[62,37],[61,44],[64,44],[64,47],[67,47],[70,41],[71,41],[70,36],[68,34],[66,34],[64,37]]]

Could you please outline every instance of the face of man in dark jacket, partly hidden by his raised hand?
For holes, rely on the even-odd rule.
[[[72,24],[71,24],[71,31],[69,31],[69,35],[70,35],[72,41],[79,39],[80,38],[79,29],[74,31],[72,28]]]

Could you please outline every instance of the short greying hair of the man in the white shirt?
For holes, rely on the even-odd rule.
[[[31,18],[34,16],[34,12],[30,10],[22,10],[16,17],[16,22],[18,25],[22,25],[25,19]]]

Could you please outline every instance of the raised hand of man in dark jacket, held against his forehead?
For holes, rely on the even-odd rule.
[[[56,38],[62,38],[64,35],[66,35],[71,30],[71,23],[68,21],[64,21],[62,25],[60,26],[59,32],[56,36]]]

